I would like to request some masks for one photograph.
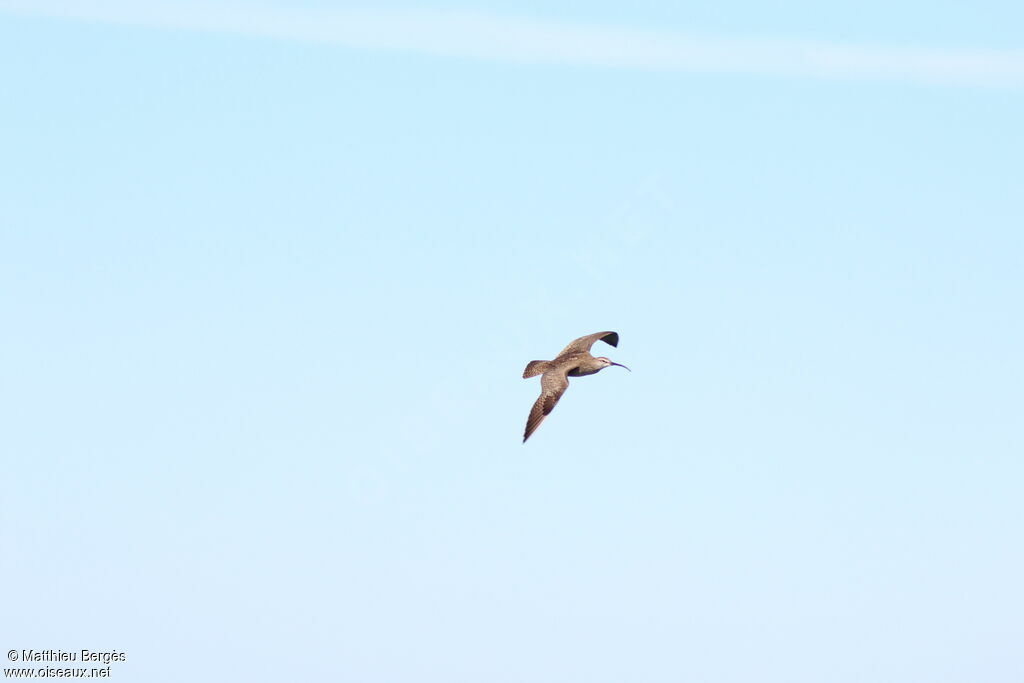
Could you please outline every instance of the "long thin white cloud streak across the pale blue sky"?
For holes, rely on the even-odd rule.
[[[698,37],[492,14],[156,0],[0,0],[0,11],[506,62],[1024,85],[1024,50]]]

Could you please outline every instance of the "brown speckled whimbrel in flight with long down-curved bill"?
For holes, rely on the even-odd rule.
[[[621,362],[612,362],[603,355],[594,357],[590,354],[590,347],[598,339],[618,346],[617,332],[595,332],[586,337],[580,337],[562,349],[561,353],[555,356],[554,360],[530,360],[526,364],[526,370],[522,371],[523,379],[541,375],[541,397],[534,403],[534,410],[529,412],[526,420],[526,432],[522,435],[522,442],[525,443],[529,435],[537,431],[537,428],[544,422],[551,411],[555,410],[555,403],[565,393],[569,387],[569,377],[583,377],[593,375],[604,370],[608,366],[618,366],[626,368]],[[626,368],[629,370],[629,368]]]

